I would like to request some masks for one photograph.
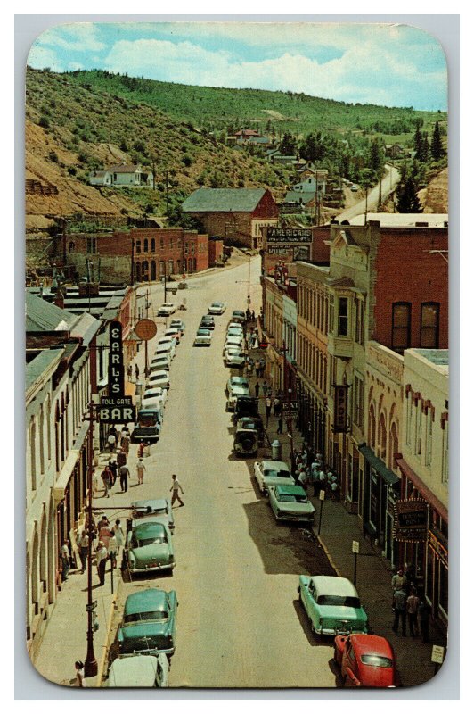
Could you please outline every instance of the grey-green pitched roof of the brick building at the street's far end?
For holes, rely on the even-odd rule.
[[[265,188],[199,188],[186,198],[184,212],[250,212],[257,208]]]

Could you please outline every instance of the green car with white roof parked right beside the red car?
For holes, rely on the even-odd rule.
[[[367,614],[347,577],[300,575],[298,595],[315,634],[367,632]]]

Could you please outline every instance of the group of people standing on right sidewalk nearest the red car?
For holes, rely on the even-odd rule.
[[[402,636],[406,636],[406,620],[410,635],[416,637],[421,633],[423,642],[429,642],[429,617],[431,609],[423,595],[418,594],[418,589],[410,569],[399,568],[392,577],[392,610],[394,621],[392,630],[398,634],[398,627],[402,625]]]

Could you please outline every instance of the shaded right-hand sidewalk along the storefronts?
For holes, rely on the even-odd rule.
[[[250,378],[250,393],[254,394],[257,378]],[[267,378],[259,378],[260,385]],[[260,413],[265,423],[265,400],[261,398]],[[290,438],[283,428],[283,434],[276,434],[277,419],[272,415],[268,420],[267,436],[270,444],[278,439],[282,444],[282,460],[290,464]],[[295,450],[302,444],[302,438],[296,428],[293,428],[293,441]],[[271,450],[268,449],[268,453]],[[319,525],[320,501],[313,496],[312,489],[309,493],[310,501],[316,509],[315,532]],[[323,517],[319,543],[323,546],[334,574],[347,577],[354,583],[355,555],[352,552],[352,543],[359,543],[357,556],[356,588],[364,609],[369,616],[369,625],[373,635],[386,637],[392,644],[396,654],[396,664],[400,671],[404,686],[421,685],[428,682],[435,675],[435,665],[431,662],[431,648],[433,644],[445,646],[446,643],[434,627],[430,627],[431,642],[423,643],[420,636],[406,637],[401,635],[401,629],[396,635],[392,631],[392,572],[388,569],[385,560],[380,558],[371,544],[365,540],[358,526],[356,515],[348,513],[344,504],[339,501],[327,500],[323,502]],[[315,546],[317,547],[317,546]],[[317,575],[317,573],[313,573]],[[409,632],[408,623],[406,625]]]

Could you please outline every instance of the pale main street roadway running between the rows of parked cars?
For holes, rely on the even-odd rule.
[[[259,258],[250,267],[251,308],[258,313]],[[334,686],[331,642],[311,634],[298,604],[298,575],[312,573],[309,551],[294,530],[277,524],[254,487],[254,460],[233,458],[230,414],[225,411],[222,360],[225,328],[233,309],[245,309],[248,264],[189,280],[189,288],[168,301],[186,298],[182,344],[170,369],[171,388],[159,443],[145,459],[147,473],[136,485],[135,448],[126,494],[98,499],[96,506],[118,507],[133,500],[169,497],[171,475],[184,488],[176,508],[176,569],[172,577],[137,577],[121,585],[119,609],[137,588],[175,589],[176,654],[171,686],[304,687]],[[143,286],[144,287],[144,286]],[[213,300],[227,303],[216,317],[212,345],[193,347],[200,316]],[[151,286],[156,315],[163,287]],[[164,324],[159,324],[159,332]],[[150,349],[158,336],[151,341]],[[116,489],[114,489],[115,491]],[[113,511],[108,511],[110,519]],[[125,519],[126,512],[118,512]]]

